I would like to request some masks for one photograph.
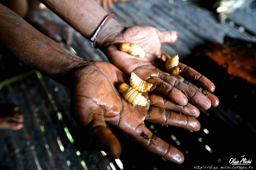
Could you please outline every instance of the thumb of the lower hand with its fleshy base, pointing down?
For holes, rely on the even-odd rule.
[[[77,89],[77,88],[76,88]],[[81,93],[78,93],[81,95]],[[107,128],[104,114],[111,114],[111,110],[116,108],[107,108],[104,105],[97,104],[86,96],[72,98],[71,107],[76,115],[77,120],[82,126],[89,129],[90,140],[92,144],[98,144],[98,149],[104,151],[113,158],[118,158],[121,154],[121,144],[116,136]],[[110,107],[110,106],[109,106]]]

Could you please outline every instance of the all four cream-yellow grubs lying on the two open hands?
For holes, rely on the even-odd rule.
[[[145,58],[145,51],[137,44],[124,42],[120,44],[120,50],[130,54],[131,56],[137,56],[139,58]],[[178,67],[179,56],[173,56],[166,61],[165,68],[172,75],[179,74],[181,68]],[[125,100],[132,105],[147,106],[149,103],[143,96],[143,92],[152,91],[155,89],[152,83],[148,83],[139,78],[134,72],[131,73],[130,85],[121,83],[119,86],[119,92],[122,93]]]

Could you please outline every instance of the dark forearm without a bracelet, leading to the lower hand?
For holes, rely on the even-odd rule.
[[[40,70],[60,83],[64,83],[61,79],[73,69],[86,64],[2,4],[0,23],[1,46],[28,66]]]

